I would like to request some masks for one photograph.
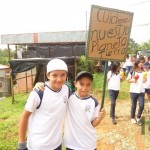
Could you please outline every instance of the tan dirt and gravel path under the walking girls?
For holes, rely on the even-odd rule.
[[[138,126],[130,121],[130,100],[117,101],[117,124],[109,117],[110,101],[105,101],[107,115],[97,127],[97,150],[150,150],[150,125]],[[150,108],[145,104],[143,118],[150,120]]]

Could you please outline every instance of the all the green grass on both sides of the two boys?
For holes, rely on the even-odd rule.
[[[93,94],[98,94],[101,99],[103,90],[103,74],[94,74]],[[18,143],[18,122],[24,109],[28,93],[15,95],[15,103],[7,97],[0,101],[0,150],[16,150]],[[109,99],[107,93],[105,99]],[[121,84],[119,99],[129,99],[129,84],[124,81]]]

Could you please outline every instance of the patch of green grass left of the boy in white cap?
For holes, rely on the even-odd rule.
[[[18,122],[28,93],[15,95],[15,104],[11,97],[0,101],[0,150],[16,150],[18,141]]]

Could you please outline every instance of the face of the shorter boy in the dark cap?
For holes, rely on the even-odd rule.
[[[77,88],[76,91],[80,98],[85,98],[89,96],[92,87],[92,81],[89,78],[83,77],[80,80],[75,81],[74,84]]]

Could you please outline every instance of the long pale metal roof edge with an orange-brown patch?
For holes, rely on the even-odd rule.
[[[1,35],[1,44],[81,43],[86,41],[86,31],[64,31]]]

